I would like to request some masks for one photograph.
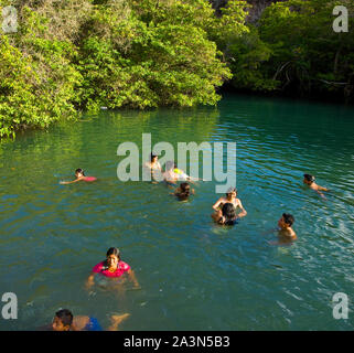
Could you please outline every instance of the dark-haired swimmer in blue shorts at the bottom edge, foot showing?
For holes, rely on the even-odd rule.
[[[111,315],[111,324],[107,331],[118,331],[118,325],[129,317],[129,313]],[[67,309],[61,309],[55,312],[51,329],[53,331],[103,331],[96,318],[85,315],[74,317]]]

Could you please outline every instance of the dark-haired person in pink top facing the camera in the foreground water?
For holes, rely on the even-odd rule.
[[[124,263],[120,259],[120,252],[116,247],[110,247],[106,254],[107,259],[97,264],[92,274],[89,275],[86,281],[86,288],[90,288],[94,285],[94,276],[95,274],[101,274],[106,277],[120,277],[125,272],[128,274],[129,278],[135,285],[135,288],[140,288],[139,282],[136,278],[133,270],[130,266]]]

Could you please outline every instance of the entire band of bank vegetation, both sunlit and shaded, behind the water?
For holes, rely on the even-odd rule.
[[[18,15],[17,32],[0,30],[0,137],[101,106],[214,105],[225,82],[353,100],[354,38],[332,30],[337,3],[354,13],[350,0],[276,2],[257,21],[246,1],[0,0]]]

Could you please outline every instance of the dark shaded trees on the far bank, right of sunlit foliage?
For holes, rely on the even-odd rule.
[[[354,13],[353,3],[345,0],[290,0],[267,8],[259,33],[272,55],[260,71],[282,89],[332,92],[353,99],[354,38],[333,31],[336,4],[345,4]],[[350,19],[353,31],[353,17]]]

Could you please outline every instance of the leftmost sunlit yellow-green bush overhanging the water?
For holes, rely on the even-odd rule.
[[[73,44],[43,35],[47,19],[26,7],[19,32],[0,36],[0,137],[77,116]]]

